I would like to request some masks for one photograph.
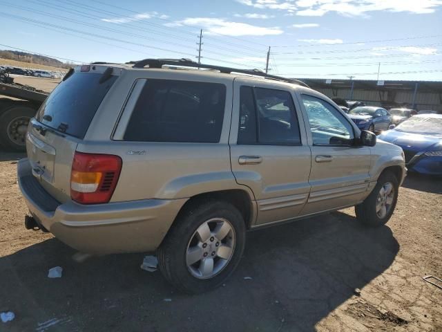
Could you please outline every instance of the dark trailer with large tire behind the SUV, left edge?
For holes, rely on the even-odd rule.
[[[49,93],[32,86],[14,83],[7,73],[0,73],[0,149],[26,150],[26,131],[32,117]]]

